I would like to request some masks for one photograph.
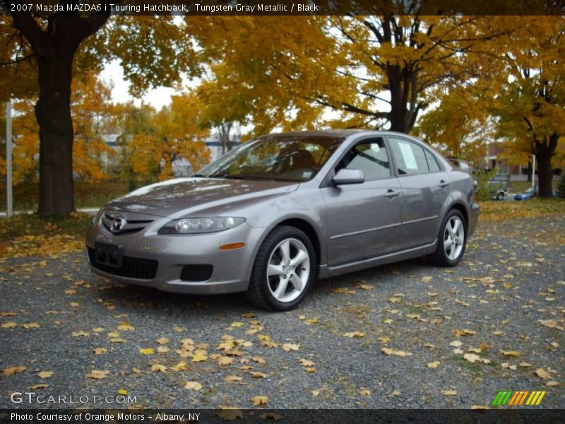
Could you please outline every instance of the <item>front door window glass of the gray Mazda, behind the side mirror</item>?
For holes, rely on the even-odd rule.
[[[362,170],[365,181],[388,178],[391,176],[391,165],[383,139],[362,141],[348,151],[340,161],[336,171]]]

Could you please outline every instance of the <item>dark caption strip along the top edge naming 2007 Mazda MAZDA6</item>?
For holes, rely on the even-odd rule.
[[[565,15],[565,0],[1,0],[1,14],[177,16]]]

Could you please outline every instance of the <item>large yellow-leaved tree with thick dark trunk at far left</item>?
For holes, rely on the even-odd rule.
[[[23,5],[25,1],[3,0],[4,12],[11,3]],[[68,214],[74,209],[70,109],[73,65],[75,69],[100,69],[104,61],[119,57],[132,90],[140,93],[156,84],[180,81],[182,71],[191,68],[194,59],[193,46],[186,42],[184,30],[172,16],[109,19],[109,0],[98,3],[102,11],[86,15],[67,11],[68,6],[81,1],[52,3],[66,12],[47,16],[17,13],[8,22],[6,18],[0,21],[2,41],[7,46],[0,49],[0,64],[7,67],[1,73],[22,73],[25,69],[37,78],[37,85],[25,86],[25,92],[37,95],[41,215]],[[0,98],[18,95],[18,86],[19,81],[0,84]]]

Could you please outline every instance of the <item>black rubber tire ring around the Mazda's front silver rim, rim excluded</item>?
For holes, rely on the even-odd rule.
[[[310,275],[308,277],[306,288],[302,290],[302,293],[300,293],[298,298],[296,298],[292,302],[279,302],[273,297],[273,295],[270,293],[270,290],[268,288],[268,281],[266,277],[268,260],[270,258],[270,255],[273,254],[275,247],[277,247],[278,244],[283,240],[290,238],[299,240],[300,242],[302,242],[304,247],[306,247],[310,257],[309,258]],[[261,272],[260,274],[261,281],[259,282],[261,285],[261,294],[263,295],[263,298],[265,298],[265,300],[268,302],[270,307],[272,307],[273,309],[279,311],[292,310],[300,302],[302,302],[304,297],[308,294],[312,284],[314,283],[314,276],[316,275],[316,255],[314,253],[314,247],[312,246],[310,239],[308,238],[307,235],[304,234],[304,232],[302,232],[297,228],[290,228],[290,227],[287,228],[282,227],[280,229],[277,229],[276,232],[273,232],[270,235],[268,235],[263,243],[268,243],[269,247],[266,251],[266,254],[263,257],[258,258],[259,261],[261,261],[261,263],[256,264],[256,266],[258,266],[258,269]]]

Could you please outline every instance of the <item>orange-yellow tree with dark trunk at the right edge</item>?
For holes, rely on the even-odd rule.
[[[494,107],[501,134],[516,151],[535,155],[539,195],[551,197],[552,158],[565,135],[565,18],[516,19],[528,25],[506,54],[509,78]]]

